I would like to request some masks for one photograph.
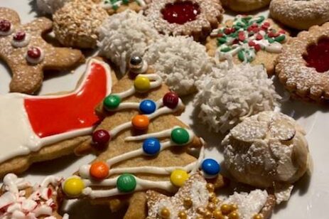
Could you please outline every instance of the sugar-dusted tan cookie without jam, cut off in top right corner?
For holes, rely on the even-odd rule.
[[[272,0],[269,11],[272,18],[299,30],[329,21],[328,0]]]

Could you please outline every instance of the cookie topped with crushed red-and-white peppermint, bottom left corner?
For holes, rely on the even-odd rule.
[[[1,218],[53,218],[58,214],[63,196],[57,193],[63,178],[47,176],[36,185],[9,173],[0,189]],[[63,218],[68,218],[65,215]]]

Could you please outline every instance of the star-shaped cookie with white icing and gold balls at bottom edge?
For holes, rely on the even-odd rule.
[[[193,173],[175,196],[165,196],[156,191],[146,192],[148,219],[161,218],[269,218],[275,198],[266,191],[237,193],[220,200],[215,186],[207,183],[200,173]]]

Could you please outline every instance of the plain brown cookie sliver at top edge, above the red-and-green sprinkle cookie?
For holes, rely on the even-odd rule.
[[[221,2],[232,11],[247,12],[268,6],[271,0],[221,0]]]

